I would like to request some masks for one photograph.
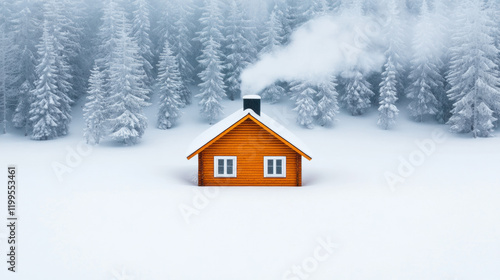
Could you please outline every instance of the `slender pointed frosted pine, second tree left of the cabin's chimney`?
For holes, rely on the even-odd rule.
[[[183,105],[179,93],[183,90],[182,78],[177,66],[177,60],[165,41],[163,52],[158,62],[158,77],[156,78],[160,94],[160,109],[158,112],[158,128],[171,128],[181,116],[179,108]]]

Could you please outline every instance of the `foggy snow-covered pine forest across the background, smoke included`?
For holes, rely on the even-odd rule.
[[[152,95],[168,129],[186,106],[212,124],[250,93],[292,99],[307,128],[377,107],[382,129],[405,110],[487,137],[499,43],[495,0],[0,0],[0,131],[64,136],[82,100],[87,142],[133,144]]]

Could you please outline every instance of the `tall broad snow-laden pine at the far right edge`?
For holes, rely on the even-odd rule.
[[[454,102],[448,121],[453,132],[492,135],[500,112],[500,74],[495,61],[494,21],[481,0],[465,0],[456,10],[448,96]]]

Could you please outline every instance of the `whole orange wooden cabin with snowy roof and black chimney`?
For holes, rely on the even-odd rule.
[[[260,112],[260,96],[243,98],[243,109],[210,127],[190,145],[198,155],[199,186],[301,186],[306,146]]]

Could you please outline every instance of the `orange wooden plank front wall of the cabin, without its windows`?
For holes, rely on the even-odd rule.
[[[214,156],[236,156],[237,177],[214,177]],[[264,177],[264,156],[286,156],[286,178]],[[300,186],[302,156],[247,119],[198,154],[203,186]]]

